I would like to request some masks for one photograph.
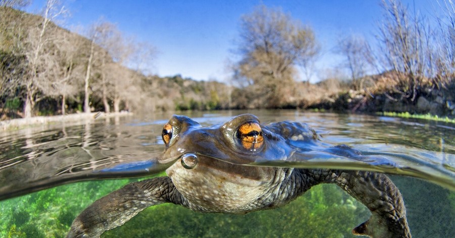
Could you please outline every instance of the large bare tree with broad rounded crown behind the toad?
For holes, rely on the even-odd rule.
[[[259,6],[241,19],[238,80],[250,82],[249,92],[269,107],[292,100],[296,66],[312,59],[319,48],[308,26],[281,10]],[[254,97],[253,98],[257,98]]]

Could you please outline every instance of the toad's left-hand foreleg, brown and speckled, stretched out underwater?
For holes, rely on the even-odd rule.
[[[134,182],[109,193],[86,208],[71,224],[67,237],[99,237],[147,207],[181,197],[169,177]]]

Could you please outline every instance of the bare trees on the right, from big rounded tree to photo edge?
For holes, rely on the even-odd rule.
[[[343,80],[344,70],[349,89],[383,94],[394,101],[415,103],[424,90],[433,89],[454,97],[450,89],[455,89],[455,5],[437,3],[444,15],[429,19],[410,12],[398,0],[382,0],[376,42],[367,42],[360,34],[341,35],[333,52],[344,60],[340,71],[334,70],[338,76],[327,78]],[[265,6],[243,16],[240,26],[241,60],[233,65],[234,80],[251,96],[250,102],[256,107],[295,107],[321,97],[320,89],[295,81],[298,69],[306,76],[314,73],[312,65],[321,54],[310,26]],[[388,71],[393,73],[379,76]]]

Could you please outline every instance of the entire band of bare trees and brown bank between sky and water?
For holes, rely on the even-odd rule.
[[[455,12],[411,12],[383,0],[376,42],[340,36],[336,69],[316,72],[322,54],[310,25],[258,6],[239,20],[230,82],[153,75],[156,52],[100,19],[79,33],[57,26],[65,8],[48,0],[41,16],[28,1],[0,1],[0,117],[74,112],[312,108],[455,114]],[[19,10],[18,10],[19,9]],[[430,19],[431,17],[431,19]],[[82,32],[82,33],[81,33]],[[299,73],[300,72],[300,73]],[[309,83],[320,73],[324,80]]]

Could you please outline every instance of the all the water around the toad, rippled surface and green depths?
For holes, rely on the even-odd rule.
[[[183,114],[209,126],[246,112]],[[348,164],[339,165],[343,168],[365,166],[368,170],[420,177],[392,176],[403,194],[414,237],[455,237],[454,125],[367,115],[286,110],[248,112],[257,115],[263,124],[307,123],[322,136],[324,143],[347,144],[381,158],[365,164],[347,161]],[[156,158],[164,149],[161,131],[169,117],[170,114],[155,114],[96,118],[1,133],[0,199],[23,196],[0,202],[0,236],[64,236],[81,210],[129,180],[74,182],[150,176],[162,171],[166,165],[157,164]],[[336,166],[314,157],[309,161],[294,158],[291,162],[296,167]],[[283,165],[276,161],[256,164]],[[67,183],[71,184],[55,187]],[[42,191],[27,194],[38,190]],[[261,237],[264,234],[291,236],[295,229],[295,232],[301,231],[295,234],[297,236],[349,237],[349,230],[368,217],[365,207],[336,186],[315,187],[307,193],[289,208],[281,209],[281,213],[278,209],[245,216],[201,215],[172,206],[158,206],[105,235]],[[159,220],[151,221],[151,217]],[[353,223],[348,222],[347,217],[354,219]],[[306,223],[301,223],[303,221]],[[333,230],[327,227],[331,224]],[[267,232],[261,233],[264,230]]]

